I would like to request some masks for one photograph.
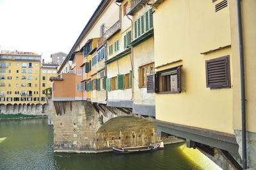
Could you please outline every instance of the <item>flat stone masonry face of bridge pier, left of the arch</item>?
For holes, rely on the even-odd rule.
[[[98,113],[83,101],[60,102],[60,107],[62,114],[54,114],[54,151],[95,150]]]

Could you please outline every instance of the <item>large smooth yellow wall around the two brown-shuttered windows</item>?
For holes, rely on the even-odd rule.
[[[230,55],[233,72],[231,49],[200,54],[231,43],[229,10],[224,8],[216,13],[216,3],[164,1],[154,12],[155,66],[183,60],[157,68],[159,71],[182,65],[182,92],[156,94],[156,119],[234,134],[233,87],[210,89],[206,88],[205,80],[205,60],[208,59]]]

